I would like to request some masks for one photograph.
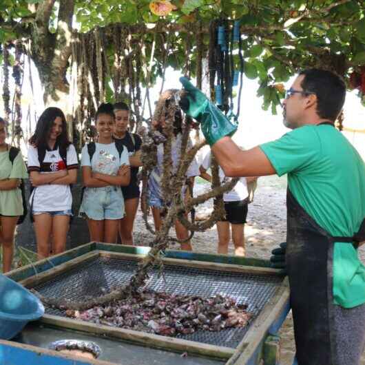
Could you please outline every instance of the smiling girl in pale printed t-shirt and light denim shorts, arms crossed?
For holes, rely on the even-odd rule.
[[[85,191],[80,214],[87,219],[90,240],[115,243],[125,214],[121,186],[129,185],[127,148],[114,143],[112,104],[101,104],[95,116],[98,142],[83,147],[81,166]]]

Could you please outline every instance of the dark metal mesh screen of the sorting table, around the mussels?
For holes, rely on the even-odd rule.
[[[42,295],[70,300],[83,300],[102,295],[113,286],[126,284],[133,275],[137,262],[98,257],[90,262],[52,278],[34,287]],[[151,272],[147,288],[159,292],[200,295],[227,295],[238,303],[248,305],[253,317],[244,328],[229,328],[219,332],[196,331],[191,335],[179,335],[185,340],[236,348],[250,324],[260,313],[264,304],[273,296],[282,279],[275,275],[229,273],[191,267],[165,265],[165,280],[158,269]],[[47,309],[46,313],[65,316],[59,310]]]

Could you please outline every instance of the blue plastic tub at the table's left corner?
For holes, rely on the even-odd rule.
[[[21,284],[0,275],[0,339],[10,340],[29,321],[44,314],[44,307],[35,295]]]

